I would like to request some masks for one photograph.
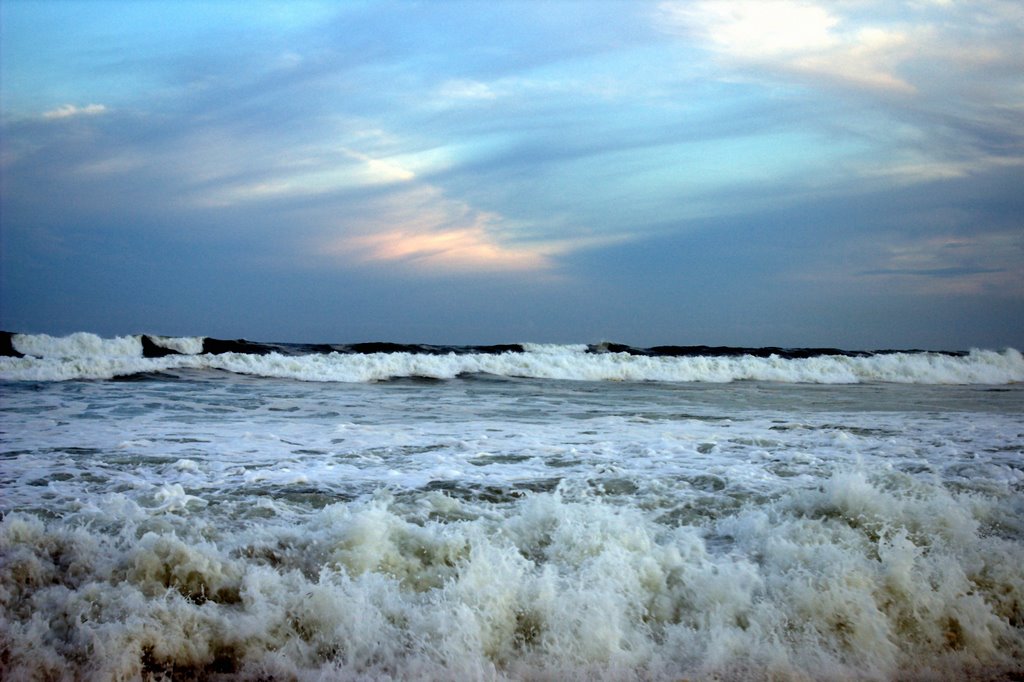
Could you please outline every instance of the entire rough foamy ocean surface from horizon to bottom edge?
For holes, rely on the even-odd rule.
[[[1020,680],[1024,359],[0,336],[4,680]]]

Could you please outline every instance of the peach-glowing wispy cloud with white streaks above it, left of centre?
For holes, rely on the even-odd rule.
[[[401,148],[390,135],[373,137],[385,147]],[[187,158],[179,162],[186,164]],[[568,250],[567,242],[523,243],[517,239],[519,225],[420,177],[443,163],[443,155],[432,150],[371,154],[351,146],[250,146],[191,196],[200,209],[295,215],[293,229],[311,236],[305,242],[309,251],[299,257],[311,254],[317,262],[326,257],[341,267],[386,263],[421,274],[547,271],[554,264],[551,256]],[[246,173],[250,165],[258,171]]]

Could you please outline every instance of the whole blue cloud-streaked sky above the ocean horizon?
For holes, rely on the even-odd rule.
[[[1024,3],[0,0],[0,329],[1024,348]]]

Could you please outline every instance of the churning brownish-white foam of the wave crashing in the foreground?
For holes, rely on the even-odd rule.
[[[562,492],[436,494],[301,523],[139,535],[0,522],[7,679],[959,679],[1020,672],[1024,561],[999,500],[837,472],[667,526]],[[166,513],[163,512],[163,513]],[[714,549],[713,538],[725,539]],[[721,541],[720,541],[721,542]]]

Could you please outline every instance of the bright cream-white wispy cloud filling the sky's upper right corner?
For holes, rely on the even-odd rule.
[[[654,16],[711,54],[722,81],[773,96],[783,85],[795,102],[842,97],[841,110],[803,122],[862,145],[834,166],[841,182],[846,172],[915,184],[1024,164],[1020,3],[671,0]]]

